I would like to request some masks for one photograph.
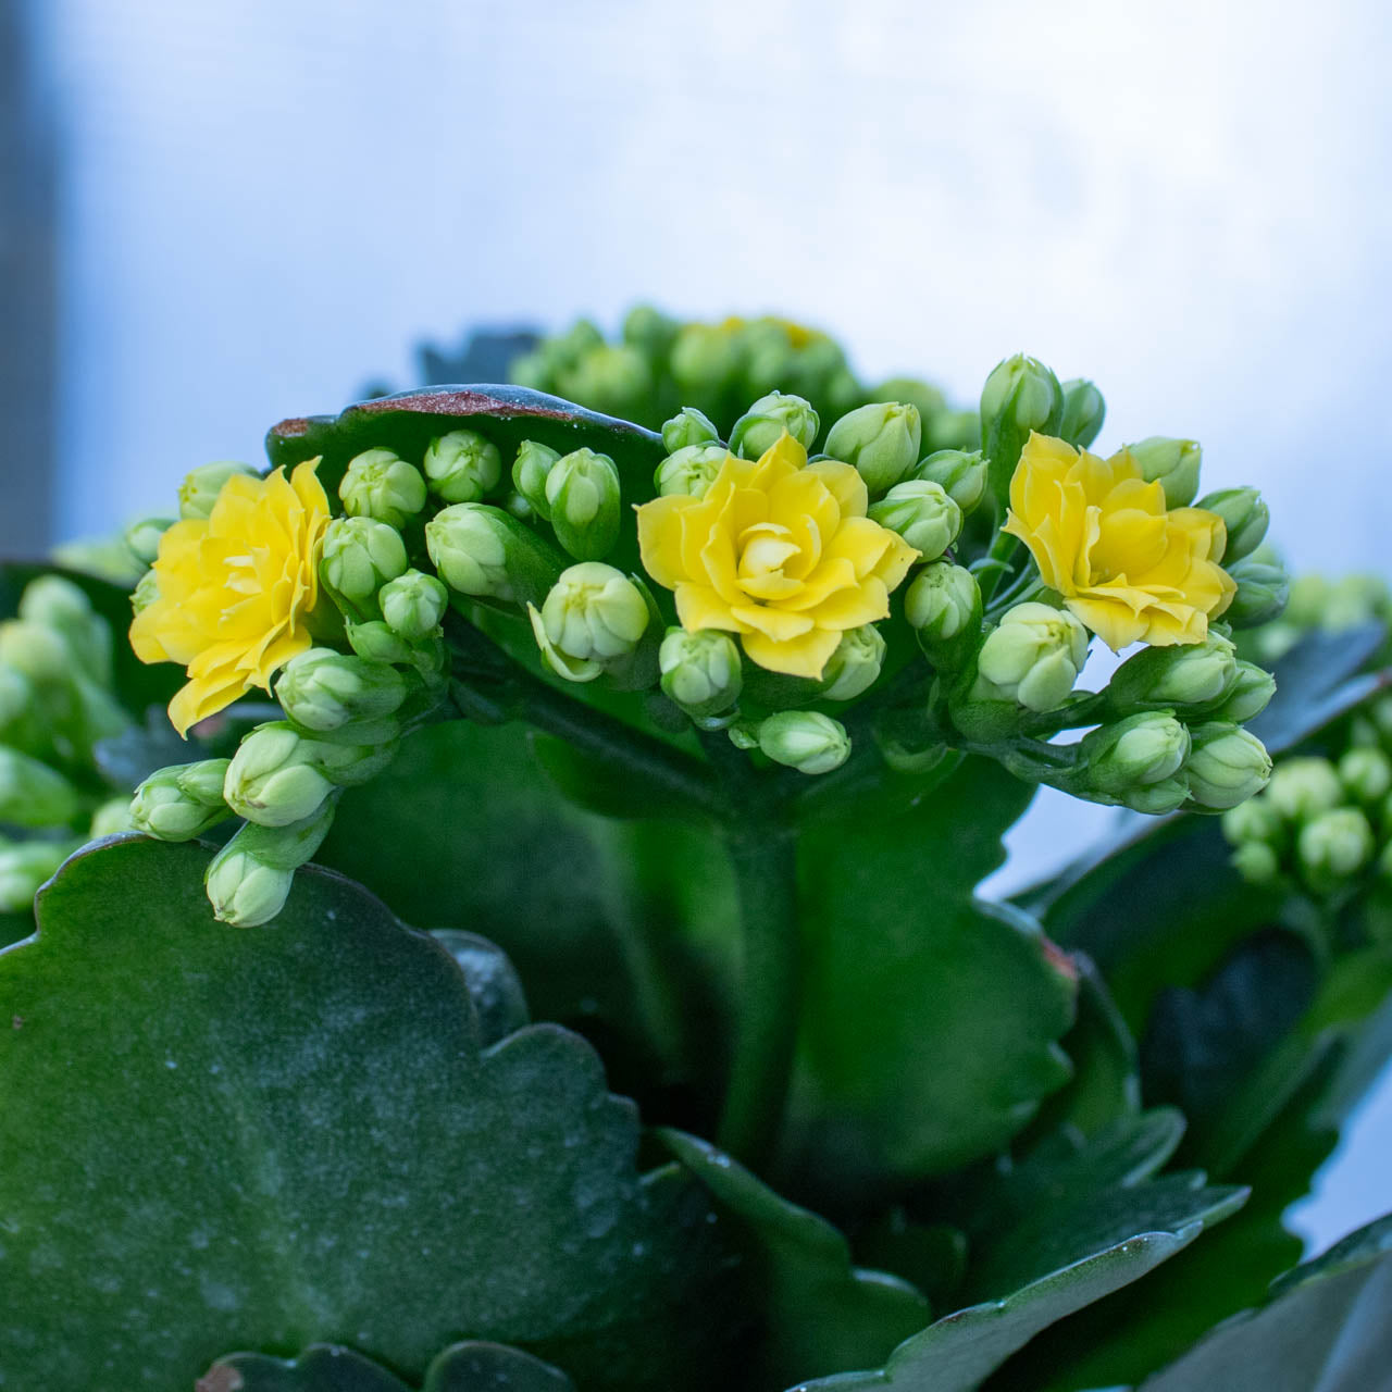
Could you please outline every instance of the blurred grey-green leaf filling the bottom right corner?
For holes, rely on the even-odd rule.
[[[1392,1368],[1392,1217],[1360,1229],[1233,1315],[1141,1392],[1374,1392]]]

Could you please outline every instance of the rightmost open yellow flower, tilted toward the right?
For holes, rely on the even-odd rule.
[[[1040,576],[1115,651],[1200,643],[1236,586],[1218,564],[1222,518],[1165,509],[1130,451],[1100,459],[1031,433],[1011,479],[1005,530],[1033,553]]]

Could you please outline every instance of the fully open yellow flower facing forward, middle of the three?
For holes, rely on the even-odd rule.
[[[638,544],[688,633],[738,633],[760,667],[821,677],[846,629],[888,617],[919,554],[867,503],[849,464],[807,464],[785,433],[757,461],[727,459],[704,497],[644,503]]]

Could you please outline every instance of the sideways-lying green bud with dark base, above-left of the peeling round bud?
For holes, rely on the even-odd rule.
[[[482,503],[455,503],[426,523],[426,551],[459,594],[540,603],[562,561],[525,522]]]

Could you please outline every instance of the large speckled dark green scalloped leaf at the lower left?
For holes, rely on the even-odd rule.
[[[589,1045],[482,1048],[448,954],[322,871],[266,928],[220,926],[207,862],[81,852],[0,955],[17,1385],[164,1389],[316,1340],[419,1378],[461,1335],[586,1388],[707,1384],[721,1228],[677,1166],[635,1171]]]

